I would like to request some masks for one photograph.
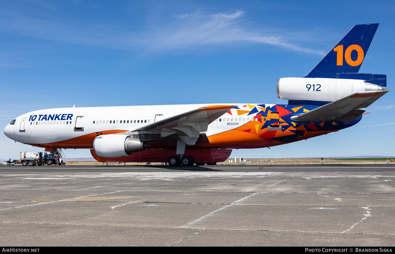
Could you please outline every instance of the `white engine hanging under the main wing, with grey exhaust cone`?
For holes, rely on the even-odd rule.
[[[93,150],[103,158],[119,158],[138,151],[143,151],[150,145],[136,138],[121,134],[97,136],[93,140]]]

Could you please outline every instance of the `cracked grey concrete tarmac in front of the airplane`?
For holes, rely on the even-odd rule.
[[[1,246],[393,246],[395,165],[0,166]]]

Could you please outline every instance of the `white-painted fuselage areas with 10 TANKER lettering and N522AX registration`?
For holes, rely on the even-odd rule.
[[[149,123],[210,105],[216,104],[50,108],[18,116],[13,125],[6,126],[4,134],[25,144],[50,144],[89,133],[132,131]],[[226,114],[222,118],[224,121],[216,120],[209,125],[207,136],[235,129],[251,120],[252,116],[233,118]]]

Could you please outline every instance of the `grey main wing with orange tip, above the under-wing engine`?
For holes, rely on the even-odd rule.
[[[123,134],[140,140],[156,140],[179,133],[179,138],[187,145],[194,145],[200,132],[207,131],[210,123],[228,112],[234,105],[204,106],[189,112],[172,116]]]

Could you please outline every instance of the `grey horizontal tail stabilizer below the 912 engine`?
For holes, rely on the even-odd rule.
[[[292,116],[293,121],[345,121],[351,123],[358,118],[366,108],[386,94],[388,90],[357,92],[348,97],[328,103],[309,112]]]

